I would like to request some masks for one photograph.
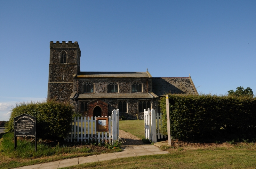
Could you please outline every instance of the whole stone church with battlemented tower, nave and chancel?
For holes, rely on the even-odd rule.
[[[81,72],[77,42],[50,42],[48,99],[69,102],[84,116],[110,116],[119,109],[126,119],[159,112],[165,93],[198,95],[191,77],[152,77],[146,72]]]

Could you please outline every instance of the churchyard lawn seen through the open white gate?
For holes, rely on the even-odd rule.
[[[121,120],[119,121],[119,129],[141,139],[145,138],[144,120]]]

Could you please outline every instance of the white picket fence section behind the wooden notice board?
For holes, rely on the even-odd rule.
[[[102,116],[103,117],[103,116]],[[107,116],[105,116],[107,117]],[[97,117],[74,117],[74,121],[71,123],[70,131],[65,141],[73,142],[96,142],[103,143],[104,139],[109,140],[114,144],[115,140],[119,140],[119,110],[112,111],[112,117],[108,116],[108,131],[96,131],[96,119]],[[93,124],[94,123],[94,124]],[[111,126],[112,123],[112,126]],[[111,130],[112,129],[112,130]],[[112,132],[111,132],[112,131]]]

